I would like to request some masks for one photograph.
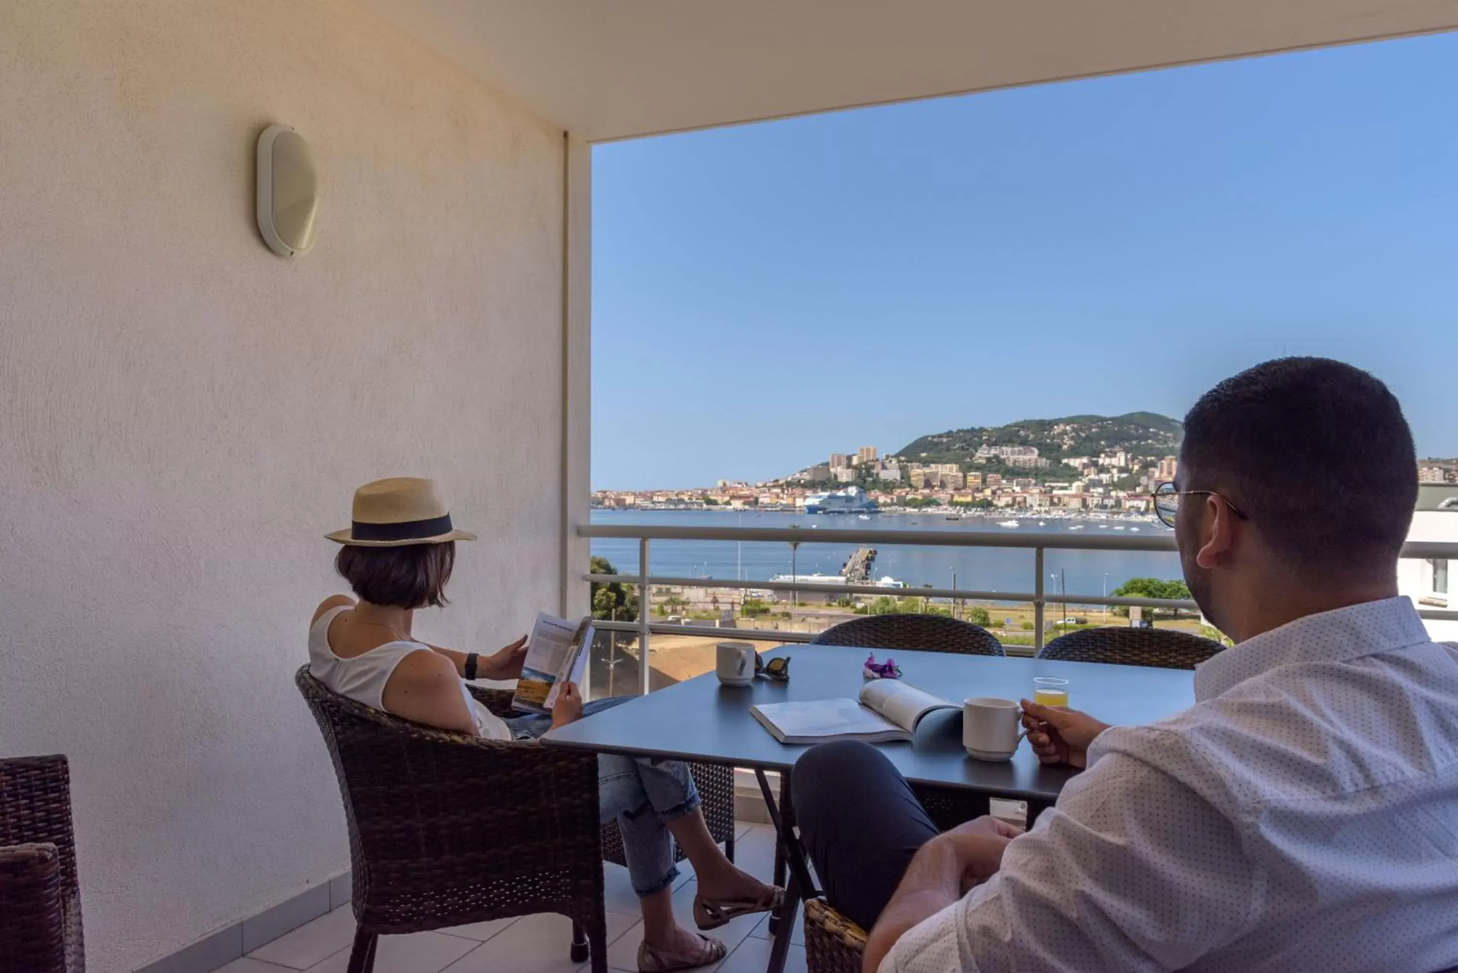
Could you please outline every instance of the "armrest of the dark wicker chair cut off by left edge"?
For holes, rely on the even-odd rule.
[[[55,845],[0,848],[0,969],[64,973],[66,915]]]

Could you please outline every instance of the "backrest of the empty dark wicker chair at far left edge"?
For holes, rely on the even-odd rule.
[[[66,923],[66,966],[73,973],[80,973],[85,970],[82,894],[76,880],[71,775],[66,757],[55,754],[0,760],[0,848],[12,845],[55,846]]]

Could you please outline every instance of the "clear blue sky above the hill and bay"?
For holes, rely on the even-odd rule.
[[[592,483],[712,486],[1280,354],[1458,455],[1458,35],[593,150]]]

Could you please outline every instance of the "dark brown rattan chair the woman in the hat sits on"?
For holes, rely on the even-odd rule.
[[[598,759],[420,726],[295,677],[334,760],[350,830],[354,950],[381,935],[557,912],[572,958],[607,973]],[[512,694],[471,687],[510,715]],[[585,948],[586,947],[586,948]]]

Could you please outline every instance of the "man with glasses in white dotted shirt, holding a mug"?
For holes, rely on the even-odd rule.
[[[1458,964],[1458,649],[1397,595],[1417,497],[1397,400],[1340,362],[1267,362],[1190,410],[1178,468],[1155,509],[1235,640],[1194,706],[1107,726],[1025,705],[1038,757],[1085,770],[1021,836],[939,836],[863,744],[796,766],[866,972]]]

